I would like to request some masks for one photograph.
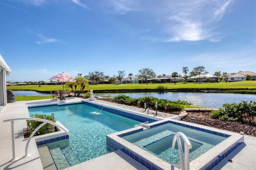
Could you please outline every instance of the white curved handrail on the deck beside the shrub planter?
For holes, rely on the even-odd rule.
[[[45,119],[39,119],[39,118],[31,118],[31,117],[22,117],[22,118],[15,118],[15,119],[8,119],[8,120],[4,120],[4,122],[11,122],[11,131],[12,131],[12,160],[10,160],[10,162],[18,160],[19,158],[16,158],[15,156],[15,142],[14,142],[14,121],[18,121],[18,120],[32,120],[32,121],[40,121],[43,122],[41,125],[39,125],[33,132],[32,134],[30,134],[28,141],[26,143],[26,148],[25,148],[25,156],[24,158],[27,158],[30,156],[30,154],[28,154],[28,144],[31,140],[31,138],[34,136],[34,134],[36,133],[36,131],[41,128],[42,126],[44,126],[46,123],[50,123],[62,130],[64,130],[64,132],[66,132],[66,134],[68,134],[68,136],[71,136],[71,134],[68,132],[68,130],[65,127],[62,127],[61,125],[58,125],[54,122],[45,120]]]

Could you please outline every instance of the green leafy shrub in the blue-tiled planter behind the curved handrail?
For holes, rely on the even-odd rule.
[[[32,115],[32,117],[44,119],[44,115],[36,114],[36,115]],[[52,115],[46,115],[46,120],[52,121],[55,123],[56,118],[53,118]],[[29,134],[31,134],[42,123],[43,122],[41,122],[41,121],[32,121],[32,120],[27,121],[28,129],[30,129]],[[44,126],[42,126],[41,128],[39,128],[37,130],[37,132],[34,134],[34,136],[47,134],[47,133],[51,133],[51,132],[55,132],[55,126],[51,125],[50,123],[46,123]]]

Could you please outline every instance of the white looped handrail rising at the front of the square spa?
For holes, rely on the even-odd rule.
[[[180,141],[180,136],[184,140],[184,152],[185,152],[185,164],[184,164],[184,158],[183,158],[183,150],[182,145]],[[180,166],[182,170],[189,170],[189,150],[192,148],[192,145],[190,144],[190,141],[188,140],[187,136],[182,132],[177,132],[172,140],[172,149],[175,147],[175,143],[177,140],[179,153],[180,153]]]

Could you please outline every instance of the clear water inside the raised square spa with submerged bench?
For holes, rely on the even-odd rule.
[[[180,156],[177,142],[175,149],[172,149],[172,140],[176,132],[184,133],[192,145],[192,149],[190,149],[190,161],[226,139],[226,137],[223,136],[174,125],[172,123],[146,129],[122,138],[162,160],[173,164],[177,168],[180,168]],[[182,138],[180,139],[184,154],[184,141]]]

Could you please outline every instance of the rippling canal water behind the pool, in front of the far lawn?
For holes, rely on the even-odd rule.
[[[16,96],[50,96],[47,93],[38,93],[36,91],[14,91]],[[81,94],[82,95],[82,94]],[[167,92],[167,93],[94,93],[94,96],[117,96],[126,95],[132,98],[152,96],[158,99],[168,99],[171,101],[184,100],[193,103],[194,106],[220,108],[224,103],[240,103],[243,101],[256,101],[256,95],[251,94],[232,94],[232,93],[185,93],[185,92]]]

